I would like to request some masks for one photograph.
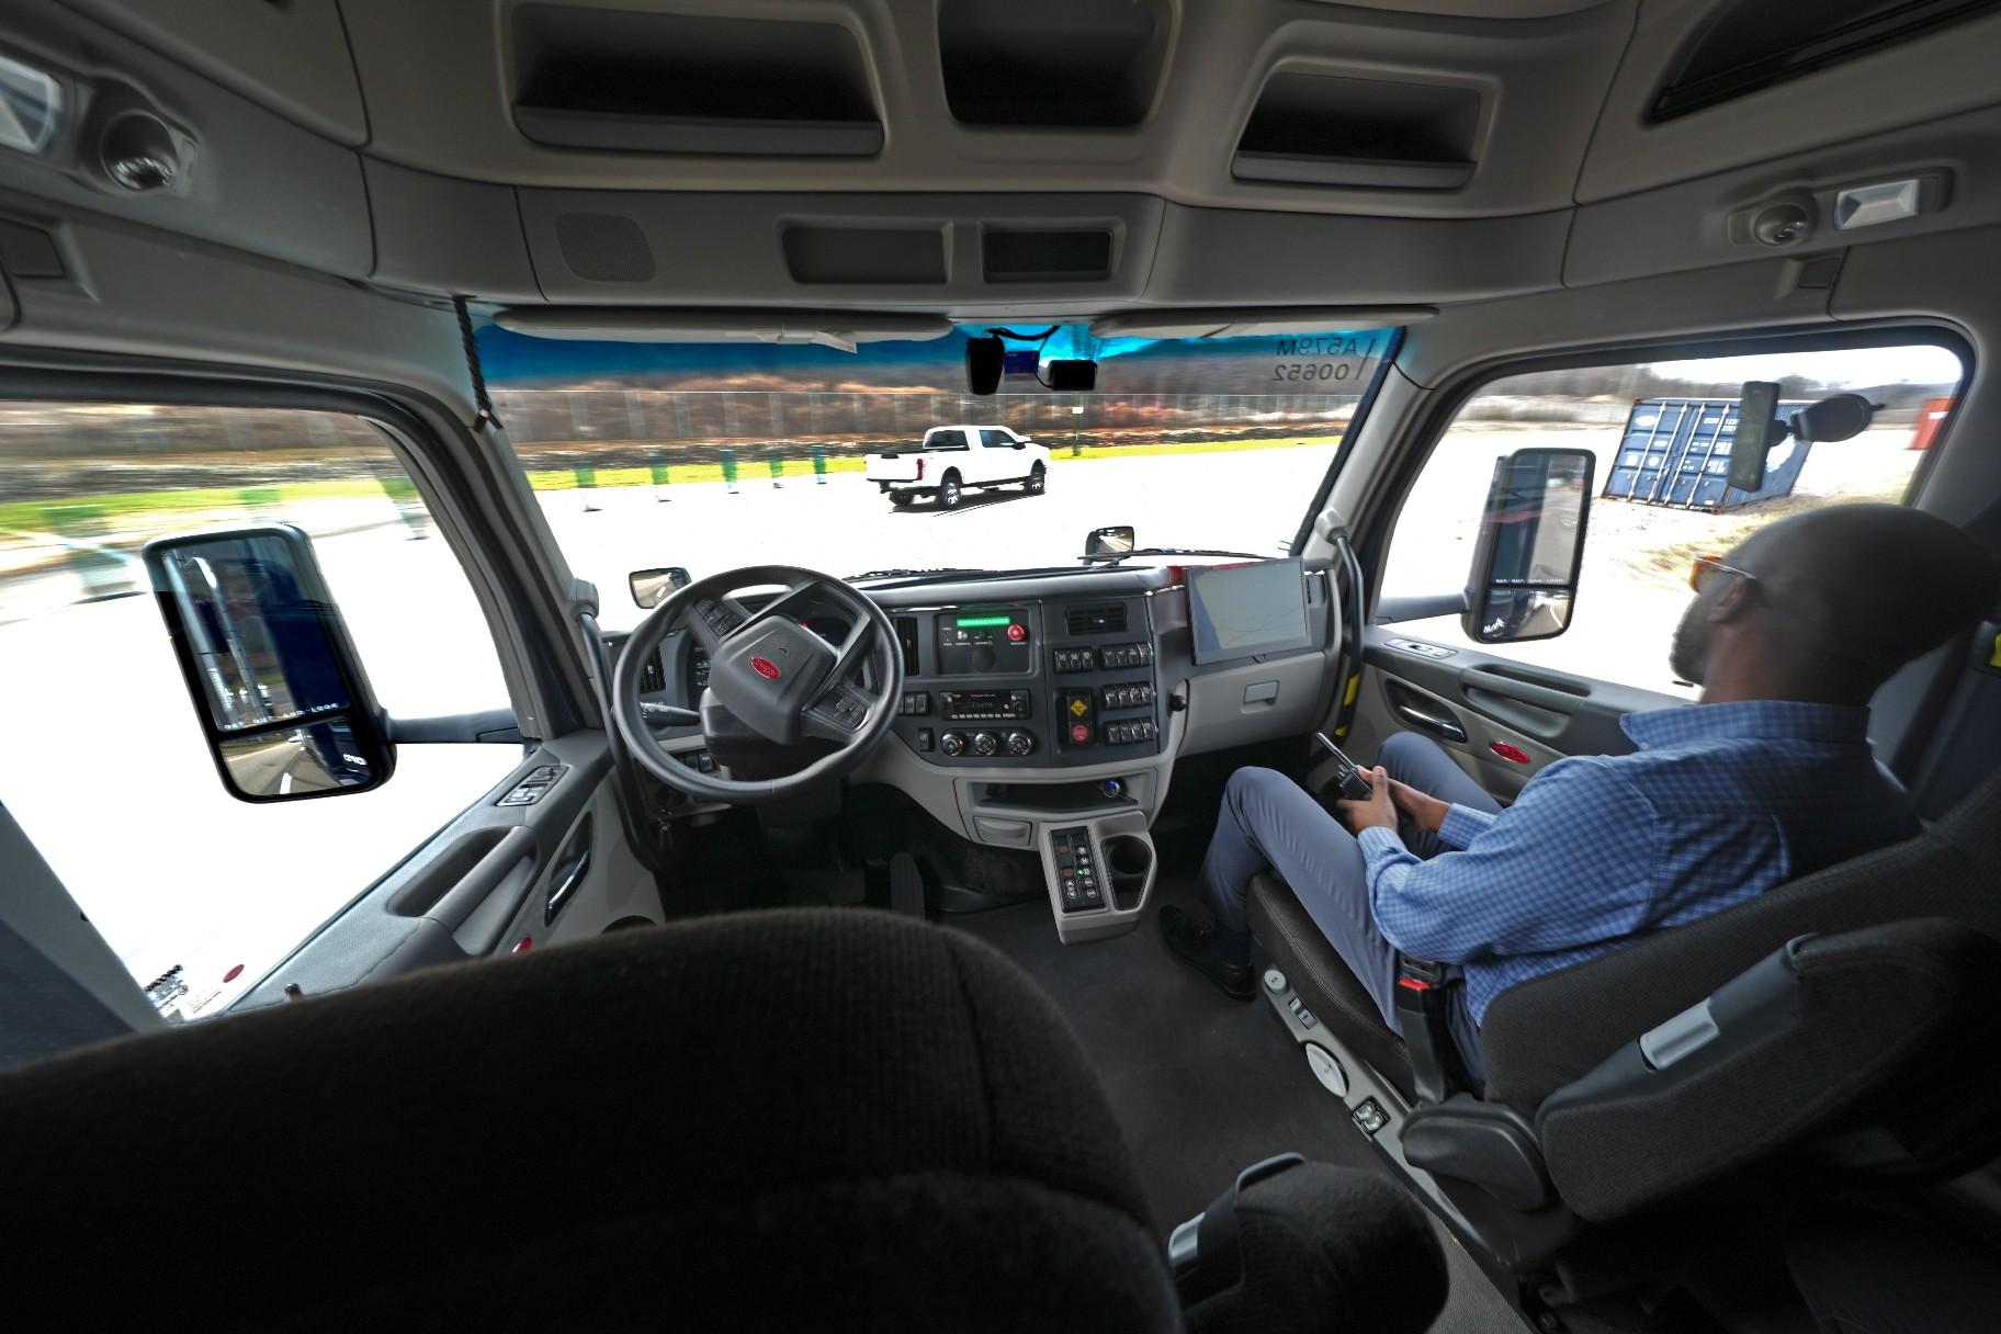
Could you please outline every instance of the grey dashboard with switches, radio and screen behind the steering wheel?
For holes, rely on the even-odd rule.
[[[1263,570],[1253,574],[1263,604],[1235,590],[1205,602],[1207,574],[1159,566],[868,586],[894,626],[904,684],[888,734],[848,782],[892,786],[972,842],[1035,854],[1061,940],[1133,930],[1153,892],[1149,830],[1177,760],[1301,736],[1335,698],[1327,566],[1237,568]],[[756,594],[738,602],[760,606]],[[806,606],[802,622],[828,640],[848,632],[848,614],[832,608]],[[684,630],[642,672],[642,690],[686,708],[706,684],[708,662]],[[682,764],[714,772],[700,728],[656,736]],[[668,790],[666,810],[718,806]]]

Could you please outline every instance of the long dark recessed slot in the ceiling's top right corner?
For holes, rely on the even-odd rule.
[[[1719,6],[1653,102],[1673,120],[2001,8],[1997,0],[1737,0]]]

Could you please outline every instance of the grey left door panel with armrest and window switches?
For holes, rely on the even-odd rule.
[[[538,774],[552,780],[532,802],[508,800]],[[580,940],[632,918],[660,922],[660,896],[626,844],[606,736],[574,732],[528,754],[234,1008],[282,1002],[288,986],[312,996],[506,954],[522,940]]]

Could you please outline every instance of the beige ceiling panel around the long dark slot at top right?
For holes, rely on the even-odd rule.
[[[1995,80],[2001,14],[1987,14],[1859,60],[1819,70],[1665,124],[1647,124],[1671,62],[1719,0],[1649,0],[1633,48],[1605,98],[1605,114],[1577,180],[1593,202],[1709,176],[1731,166],[1857,140],[1893,126],[1987,106]],[[1813,24],[1813,6],[1799,6]]]

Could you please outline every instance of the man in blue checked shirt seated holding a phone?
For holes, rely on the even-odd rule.
[[[1341,822],[1283,774],[1239,770],[1203,862],[1213,926],[1161,910],[1175,954],[1251,998],[1251,878],[1277,870],[1397,1022],[1397,956],[1459,966],[1453,1038],[1509,986],[1917,834],[1869,746],[1869,700],[2001,596],[1995,558],[1891,504],[1779,520],[1703,562],[1675,630],[1701,702],[1631,714],[1623,756],[1573,756],[1503,810],[1437,744],[1391,736]]]

